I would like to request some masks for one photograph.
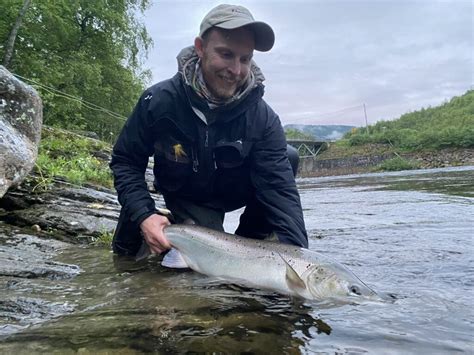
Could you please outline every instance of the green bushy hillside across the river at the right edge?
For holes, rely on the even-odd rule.
[[[406,151],[474,147],[474,90],[439,107],[421,109],[393,121],[379,121],[345,135],[353,145],[390,144]]]

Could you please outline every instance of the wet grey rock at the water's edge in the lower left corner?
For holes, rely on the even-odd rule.
[[[18,233],[0,224],[0,336],[74,310],[73,305],[50,295],[59,280],[71,279],[81,271],[76,265],[53,260],[67,247],[70,244]],[[44,294],[41,285],[46,285]]]

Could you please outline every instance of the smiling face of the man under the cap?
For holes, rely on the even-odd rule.
[[[211,29],[205,41],[194,41],[204,81],[219,99],[228,99],[245,82],[255,48],[252,31]]]

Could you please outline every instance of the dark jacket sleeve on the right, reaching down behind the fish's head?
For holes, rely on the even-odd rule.
[[[264,134],[255,142],[252,156],[251,180],[257,200],[263,205],[265,217],[287,244],[308,247],[303,210],[296,182],[286,153],[286,138],[280,119],[268,105]]]

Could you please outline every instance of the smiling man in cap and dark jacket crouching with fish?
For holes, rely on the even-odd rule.
[[[169,219],[145,183],[154,155],[155,187],[176,222],[223,230],[225,212],[246,206],[236,234],[308,246],[300,198],[278,116],[262,99],[253,51],[274,43],[269,25],[241,6],[219,5],[203,19],[194,46],[178,55],[178,73],[146,90],[114,146],[110,167],[122,211],[114,252],[170,248]],[[143,237],[142,237],[143,236]]]

